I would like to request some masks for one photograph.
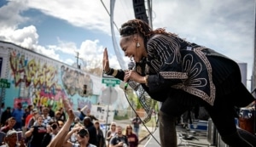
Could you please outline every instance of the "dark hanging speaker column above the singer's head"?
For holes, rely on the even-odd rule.
[[[133,10],[135,18],[138,20],[143,20],[148,23],[148,16],[146,13],[144,0],[133,0]]]

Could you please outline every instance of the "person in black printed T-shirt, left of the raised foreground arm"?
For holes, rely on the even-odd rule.
[[[26,138],[31,137],[28,143],[29,147],[41,147],[45,133],[47,133],[47,130],[46,127],[43,125],[43,116],[38,116],[37,125],[32,126],[25,133]]]

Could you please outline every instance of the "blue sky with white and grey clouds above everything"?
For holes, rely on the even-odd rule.
[[[247,78],[251,78],[253,0],[152,0],[152,3],[154,29],[165,27],[190,42],[247,63]],[[119,67],[113,51],[110,17],[103,4],[109,11],[109,0],[1,0],[0,40],[69,65],[76,63],[77,52],[81,64],[102,65],[102,51],[106,47],[110,64]],[[113,18],[118,27],[134,19],[132,1],[116,1]],[[115,35],[119,41],[117,29]]]

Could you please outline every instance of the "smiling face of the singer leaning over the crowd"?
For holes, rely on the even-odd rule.
[[[124,51],[125,56],[133,58],[135,62],[139,62],[143,59],[144,47],[141,37],[134,37],[131,35],[129,37],[121,37],[120,39],[120,47]],[[140,44],[137,47],[137,43]]]

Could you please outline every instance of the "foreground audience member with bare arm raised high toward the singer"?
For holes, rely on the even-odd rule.
[[[64,108],[67,111],[67,122],[65,122],[64,126],[61,128],[60,132],[57,133],[55,139],[53,139],[47,147],[55,147],[55,146],[62,146],[62,147],[96,147],[96,145],[89,144],[90,133],[84,129],[84,127],[73,127],[71,132],[77,134],[78,144],[73,144],[68,139],[73,134],[69,132],[70,126],[73,123],[75,115],[69,102],[67,99],[63,99]]]

